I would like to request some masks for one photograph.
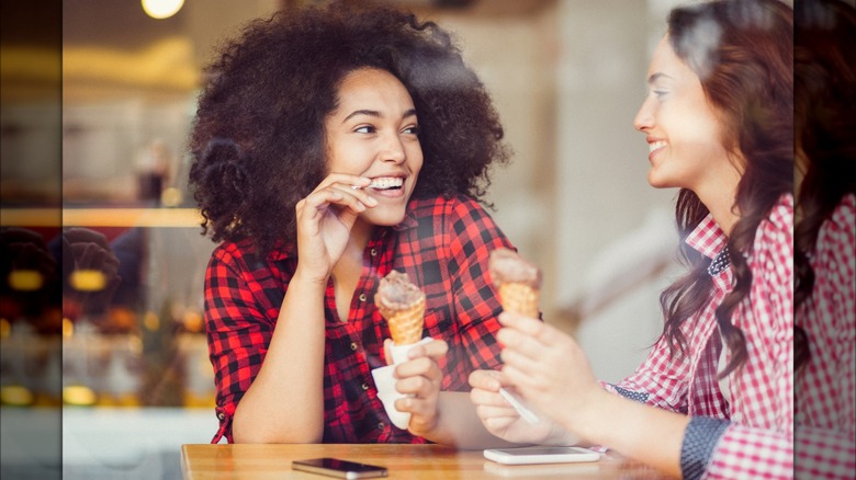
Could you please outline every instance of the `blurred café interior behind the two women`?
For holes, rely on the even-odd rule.
[[[544,271],[545,321],[600,378],[630,374],[679,272],[676,191],[647,185],[632,126],[678,2],[386,1],[453,32],[494,98],[515,155],[493,215]],[[4,475],[177,478],[179,446],[214,435],[214,243],[187,188],[202,68],[245,22],[323,2],[3,2]],[[60,407],[61,445],[40,443]]]

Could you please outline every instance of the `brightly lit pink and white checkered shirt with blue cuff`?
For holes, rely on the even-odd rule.
[[[722,342],[714,317],[716,308],[733,288],[730,266],[712,273],[709,304],[682,324],[686,355],[671,357],[667,342],[661,339],[630,377],[607,386],[613,392],[694,418],[685,432],[682,468],[687,452],[701,452],[702,458],[694,460],[695,471],[685,469],[685,477],[793,476],[792,229],[793,198],[784,195],[755,233],[747,256],[752,289],[731,319],[746,338],[748,357],[729,376],[730,401],[717,380]],[[713,260],[727,240],[708,216],[686,241]]]

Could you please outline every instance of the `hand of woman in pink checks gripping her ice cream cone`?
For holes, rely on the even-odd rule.
[[[570,335],[540,320],[499,316],[503,376],[536,410],[573,430],[602,389],[588,359]]]

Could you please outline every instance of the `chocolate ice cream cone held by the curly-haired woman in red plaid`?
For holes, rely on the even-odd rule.
[[[381,279],[374,302],[390,325],[396,345],[409,345],[423,338],[425,293],[406,274],[392,271]]]

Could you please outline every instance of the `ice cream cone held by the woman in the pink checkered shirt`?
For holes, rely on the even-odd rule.
[[[510,249],[496,249],[491,252],[489,268],[503,310],[538,318],[541,270]]]

